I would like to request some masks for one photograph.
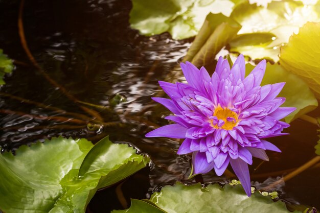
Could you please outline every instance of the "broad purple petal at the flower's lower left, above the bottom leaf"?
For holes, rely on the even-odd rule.
[[[192,154],[192,165],[194,174],[205,174],[214,168],[214,162],[208,163],[204,152],[194,152]]]

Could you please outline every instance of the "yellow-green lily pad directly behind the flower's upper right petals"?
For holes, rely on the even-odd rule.
[[[248,75],[254,66],[246,64],[246,75]],[[261,85],[286,82],[279,97],[285,97],[286,101],[281,107],[295,107],[296,110],[285,117],[285,121],[290,123],[299,116],[314,110],[318,102],[308,85],[298,76],[288,72],[279,64],[267,63],[265,75]]]

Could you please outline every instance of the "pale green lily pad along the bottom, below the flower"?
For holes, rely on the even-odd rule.
[[[218,184],[209,184],[202,187],[200,183],[186,186],[177,183],[174,186],[165,186],[161,192],[154,193],[150,201],[157,207],[168,213],[282,213],[290,212],[281,202],[273,202],[269,196],[262,196],[255,192],[248,197],[241,185],[231,186],[226,184],[220,187]],[[141,203],[143,204],[143,203]],[[139,209],[118,210],[113,212],[140,212]],[[149,211],[155,213],[156,211]],[[294,211],[299,212],[299,211]]]

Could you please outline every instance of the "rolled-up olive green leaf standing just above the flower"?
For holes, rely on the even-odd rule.
[[[184,61],[191,61],[198,67],[211,63],[240,28],[232,18],[222,14],[208,14]]]

